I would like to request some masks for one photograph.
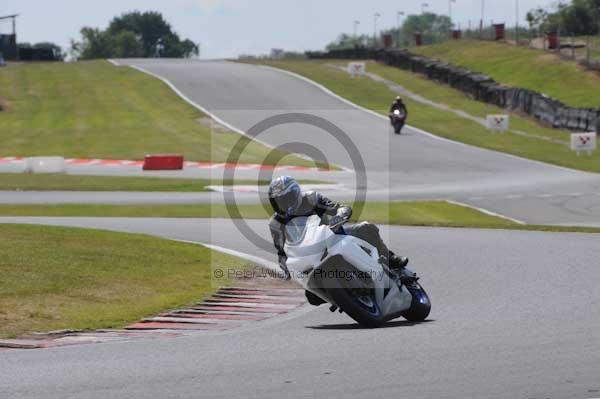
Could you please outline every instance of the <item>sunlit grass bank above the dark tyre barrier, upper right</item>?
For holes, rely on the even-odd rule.
[[[600,107],[600,75],[548,52],[475,40],[449,41],[411,52],[482,72],[509,86],[545,93],[573,107]]]

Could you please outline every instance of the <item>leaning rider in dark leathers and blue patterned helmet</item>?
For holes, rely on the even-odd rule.
[[[323,223],[336,225],[352,216],[351,207],[333,202],[316,191],[303,192],[296,180],[289,176],[273,179],[269,186],[269,202],[275,211],[269,221],[269,228],[273,237],[273,244],[277,249],[279,267],[285,273],[286,279],[291,277],[286,266],[287,256],[284,251],[285,225],[290,220],[298,216],[318,215]],[[379,229],[374,224],[362,222],[352,227],[341,227],[340,229],[340,233],[358,237],[375,246],[390,269],[400,270],[408,264],[408,258],[397,256],[388,249],[379,235]],[[313,298],[315,296],[310,292],[307,291],[306,295],[311,304],[322,303],[319,298]]]

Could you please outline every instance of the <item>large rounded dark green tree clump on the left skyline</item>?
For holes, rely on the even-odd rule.
[[[110,57],[184,58],[198,55],[199,49],[189,39],[181,40],[163,16],[154,11],[129,12],[115,17],[104,31],[81,29],[81,41],[71,42],[77,59]],[[158,53],[160,45],[160,54]]]

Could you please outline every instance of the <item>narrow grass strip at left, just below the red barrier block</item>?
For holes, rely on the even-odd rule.
[[[316,180],[301,180],[303,184],[323,184]],[[203,192],[207,186],[230,186],[231,180],[178,179],[167,177],[121,177],[84,175],[31,175],[0,173],[0,191],[161,191]],[[235,184],[268,185],[266,180],[236,180]]]

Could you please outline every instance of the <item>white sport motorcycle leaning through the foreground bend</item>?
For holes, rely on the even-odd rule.
[[[391,271],[377,248],[324,225],[317,215],[286,225],[285,253],[292,277],[309,292],[366,327],[404,317],[423,321],[431,302],[416,273]]]

